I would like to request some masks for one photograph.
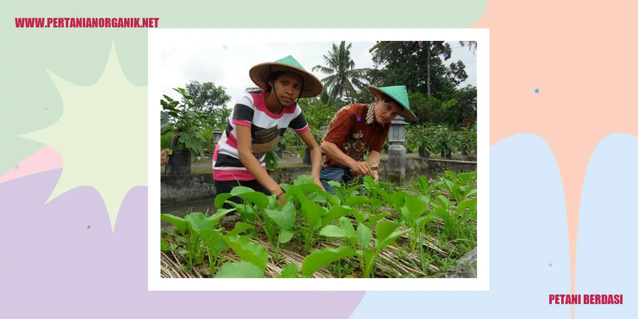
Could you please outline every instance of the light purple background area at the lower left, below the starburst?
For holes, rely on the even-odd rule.
[[[130,189],[112,232],[94,188],[45,205],[61,172],[0,184],[2,317],[348,318],[365,293],[149,292],[147,188]]]

